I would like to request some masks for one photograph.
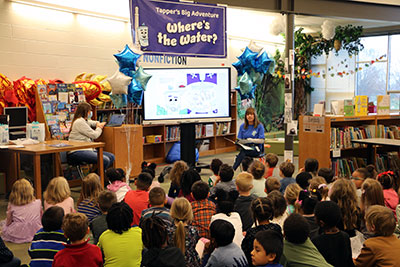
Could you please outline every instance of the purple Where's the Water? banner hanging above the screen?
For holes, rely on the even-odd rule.
[[[134,43],[143,52],[227,56],[226,7],[161,0],[130,0]]]

